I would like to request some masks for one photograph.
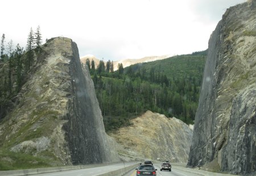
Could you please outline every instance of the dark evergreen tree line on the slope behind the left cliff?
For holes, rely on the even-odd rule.
[[[19,44],[14,46],[13,40],[6,45],[6,36],[3,33],[1,38],[0,55],[0,119],[5,117],[11,108],[11,100],[14,98],[22,85],[26,82],[27,76],[34,65],[35,54],[40,51],[42,35],[40,26],[34,32],[30,29],[27,37],[26,49]]]

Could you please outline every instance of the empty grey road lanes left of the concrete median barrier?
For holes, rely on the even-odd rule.
[[[54,173],[45,173],[45,174],[35,174],[34,176],[95,176],[98,174],[108,173],[113,170],[121,169],[124,166],[134,165],[135,162],[129,163],[118,163],[108,166],[100,166],[95,168],[86,168],[86,169],[76,169],[76,170],[67,170],[59,171]]]

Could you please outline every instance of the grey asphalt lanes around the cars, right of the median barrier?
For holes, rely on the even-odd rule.
[[[160,164],[154,164],[156,171],[156,176],[199,176],[199,174],[193,174],[189,173],[187,171],[183,171],[180,169],[175,169],[175,167],[172,167],[172,171],[160,171]],[[136,175],[136,170],[132,170],[129,173],[127,173],[124,176],[135,176]],[[202,175],[200,175],[202,176]]]

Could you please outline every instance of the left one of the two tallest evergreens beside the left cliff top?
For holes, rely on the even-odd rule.
[[[30,29],[30,33],[28,34],[28,38],[27,38],[27,47],[26,47],[26,67],[27,70],[30,70],[30,67],[32,65],[32,61],[33,61],[33,57],[34,57],[34,53],[33,53],[33,49],[34,48],[34,32],[33,29]]]

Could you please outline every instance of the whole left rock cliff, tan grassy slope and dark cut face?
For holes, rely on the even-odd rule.
[[[75,42],[49,40],[33,72],[16,97],[16,108],[0,123],[0,152],[30,154],[51,166],[118,161]]]

